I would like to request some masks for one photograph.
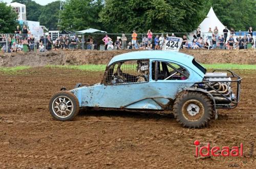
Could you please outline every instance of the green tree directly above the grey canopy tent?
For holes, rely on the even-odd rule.
[[[101,29],[98,13],[102,0],[67,0],[61,12],[61,29],[79,31],[93,27]]]

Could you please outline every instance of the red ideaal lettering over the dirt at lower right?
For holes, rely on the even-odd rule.
[[[195,140],[194,145],[196,146],[195,157],[198,157],[198,153],[202,157],[206,157],[206,156],[210,156],[210,155],[215,156],[215,157],[218,157],[218,156],[223,156],[223,157],[227,157],[227,156],[239,157],[240,156],[240,157],[242,157],[243,156],[243,143],[240,143],[240,147],[234,146],[231,148],[229,148],[227,146],[224,146],[222,148],[220,148],[218,146],[210,148],[210,144],[208,143],[207,146],[202,146],[199,149],[198,147],[200,145],[200,142],[198,140]],[[203,153],[204,150],[206,150],[205,154]]]

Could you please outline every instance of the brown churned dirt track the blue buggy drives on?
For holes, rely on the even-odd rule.
[[[204,129],[186,129],[172,115],[152,112],[89,111],[58,122],[48,112],[51,95],[62,86],[99,82],[101,72],[33,68],[1,74],[0,168],[253,168],[256,73],[239,74],[239,106],[219,111]],[[243,143],[245,157],[197,159],[196,139],[212,147]]]

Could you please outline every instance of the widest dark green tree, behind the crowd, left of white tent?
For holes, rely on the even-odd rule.
[[[190,32],[203,19],[203,1],[106,0],[100,21],[109,32]]]

